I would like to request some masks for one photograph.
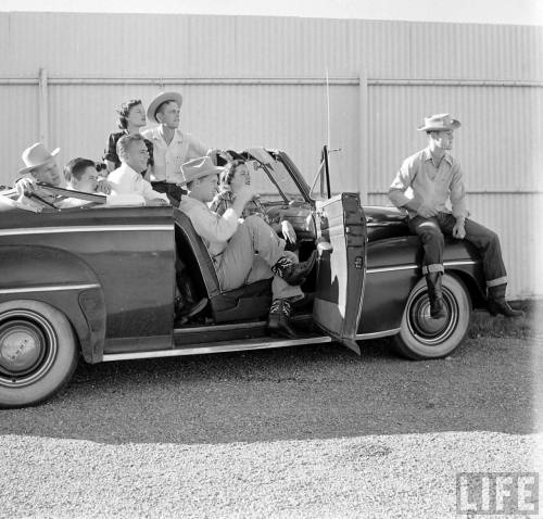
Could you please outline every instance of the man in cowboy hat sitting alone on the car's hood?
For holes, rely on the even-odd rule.
[[[479,250],[491,314],[518,317],[522,312],[513,309],[505,301],[507,273],[497,235],[467,218],[462,169],[456,159],[447,153],[453,148],[453,132],[459,127],[459,121],[449,114],[425,117],[418,130],[428,135],[428,147],[403,162],[390,187],[389,198],[396,207],[407,210],[409,229],[422,243],[422,274],[428,286],[431,317],[445,317],[441,290],[443,233],[465,239]],[[449,200],[452,211],[446,206]]]

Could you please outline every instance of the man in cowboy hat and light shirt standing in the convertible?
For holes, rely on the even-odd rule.
[[[153,143],[154,164],[150,168],[151,185],[155,191],[166,193],[172,205],[177,206],[182,190],[181,164],[211,152],[211,149],[179,129],[179,113],[182,96],[178,92],[162,92],[147,109],[147,117],[159,126],[142,132]]]

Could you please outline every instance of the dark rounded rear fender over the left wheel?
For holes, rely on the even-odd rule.
[[[14,244],[0,248],[0,303],[25,299],[54,306],[72,324],[85,360],[101,360],[106,320],[104,294],[87,263],[64,250]]]

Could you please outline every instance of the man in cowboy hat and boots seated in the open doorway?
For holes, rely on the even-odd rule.
[[[210,156],[193,159],[181,166],[189,191],[179,204],[202,237],[213,260],[223,290],[233,290],[245,283],[270,279],[273,302],[268,329],[272,333],[295,337],[290,326],[291,303],[303,298],[300,284],[315,264],[315,254],[304,263],[295,263],[285,254],[285,240],[258,216],[239,221],[243,207],[257,193],[243,186],[230,208],[223,215],[210,210],[223,170]]]

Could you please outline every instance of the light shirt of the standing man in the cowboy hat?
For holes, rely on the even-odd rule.
[[[210,150],[195,137],[179,128],[175,130],[169,144],[166,144],[160,126],[146,130],[141,135],[153,143],[154,164],[150,168],[151,181],[153,182],[178,183],[182,181],[181,164],[191,159],[204,156]]]

